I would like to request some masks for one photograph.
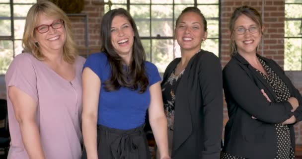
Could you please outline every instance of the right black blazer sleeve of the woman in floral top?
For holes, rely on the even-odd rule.
[[[201,159],[219,159],[223,130],[222,67],[214,54],[203,56],[198,74],[204,104],[204,150]]]

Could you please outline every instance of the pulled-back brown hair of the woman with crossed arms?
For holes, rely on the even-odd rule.
[[[240,15],[246,15],[247,17],[251,18],[257,25],[259,25],[260,30],[261,30],[261,35],[263,35],[262,28],[262,20],[261,20],[261,14],[253,7],[250,6],[240,6],[237,7],[234,12],[232,13],[232,16],[230,17],[229,21],[229,31],[230,31],[230,38],[232,39],[233,33],[234,33],[234,27],[235,27],[235,22],[238,19]],[[230,41],[230,54],[236,54],[235,49],[236,49],[236,44],[233,40]]]

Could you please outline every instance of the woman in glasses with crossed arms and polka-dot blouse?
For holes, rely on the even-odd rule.
[[[229,120],[221,159],[294,159],[299,90],[275,61],[257,54],[264,27],[256,9],[236,8],[229,30],[231,60],[223,70]]]

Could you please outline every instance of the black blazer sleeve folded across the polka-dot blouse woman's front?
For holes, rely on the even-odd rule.
[[[293,115],[291,104],[288,101],[268,102],[243,67],[236,62],[225,67],[225,93],[230,94],[236,105],[262,122],[277,124],[289,119]]]

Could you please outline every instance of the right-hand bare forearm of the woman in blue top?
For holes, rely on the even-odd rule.
[[[151,129],[158,147],[160,158],[169,156],[168,154],[168,135],[167,135],[167,119],[163,115],[156,119],[150,120]]]

